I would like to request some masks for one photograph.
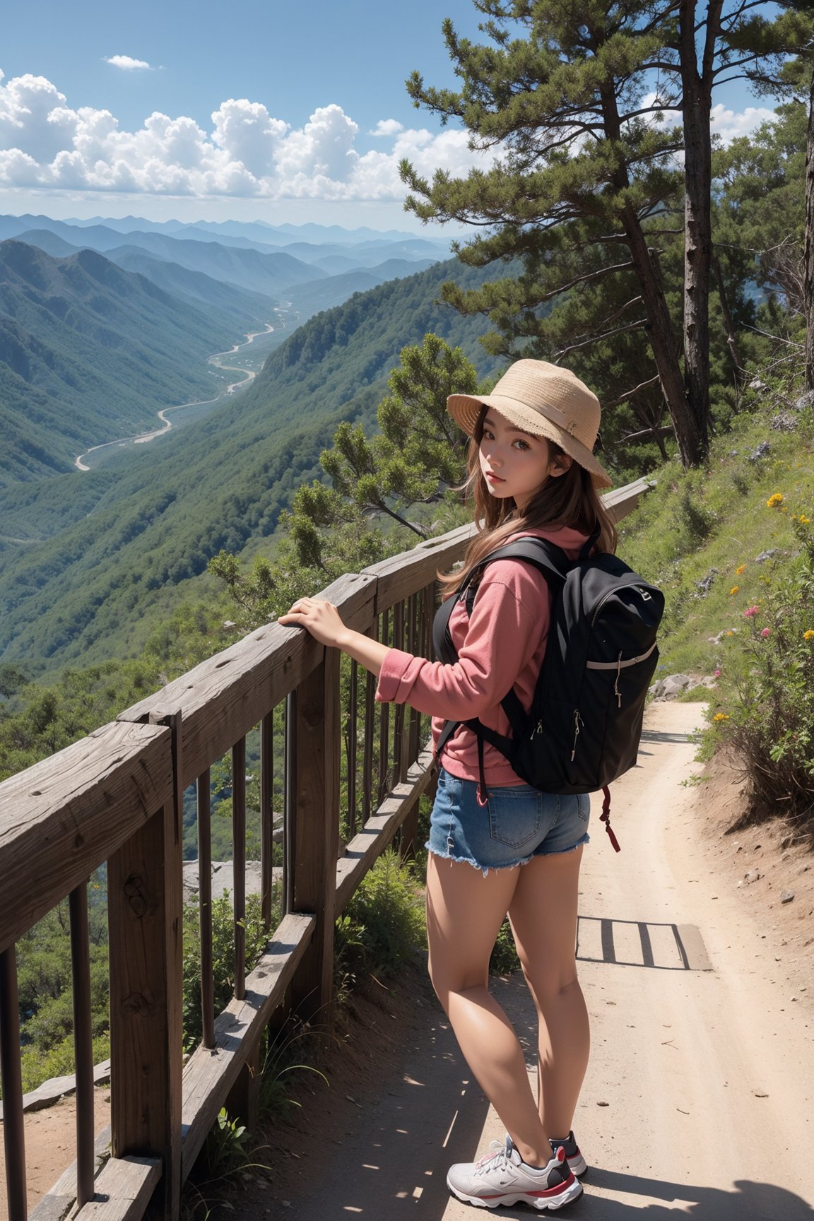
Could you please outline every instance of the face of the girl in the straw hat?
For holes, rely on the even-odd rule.
[[[492,496],[500,501],[511,497],[520,513],[547,479],[564,475],[571,464],[565,455],[558,465],[546,437],[524,432],[492,407],[483,421],[480,457],[481,474]]]

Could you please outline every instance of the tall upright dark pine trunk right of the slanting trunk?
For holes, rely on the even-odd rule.
[[[711,272],[713,48],[719,34],[720,2],[707,10],[702,70],[697,62],[696,0],[681,0],[679,42],[683,94],[685,259],[683,370],[687,403],[697,424],[699,460],[709,444],[709,280]]]

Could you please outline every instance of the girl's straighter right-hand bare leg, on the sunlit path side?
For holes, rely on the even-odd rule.
[[[576,974],[582,849],[538,856],[520,871],[509,919],[539,1018],[539,1117],[549,1136],[574,1126],[591,1032]]]

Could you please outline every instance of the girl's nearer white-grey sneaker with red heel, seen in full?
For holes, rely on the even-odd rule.
[[[532,1209],[561,1209],[578,1200],[582,1188],[574,1177],[563,1149],[547,1166],[527,1166],[511,1138],[492,1142],[494,1153],[480,1161],[461,1161],[450,1167],[447,1187],[469,1204],[494,1209],[499,1204],[528,1204]]]

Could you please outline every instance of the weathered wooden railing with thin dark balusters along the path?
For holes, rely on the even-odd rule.
[[[605,498],[616,518],[644,480]],[[434,576],[471,527],[428,540],[321,596],[360,631],[430,656]],[[345,669],[347,665],[347,669]],[[245,967],[247,739],[259,726],[265,952]],[[282,734],[279,730],[282,729]],[[250,737],[250,735],[253,735]],[[218,1110],[253,1117],[272,1015],[330,1026],[333,932],[377,856],[415,834],[431,780],[427,719],[376,705],[355,663],[306,632],[253,631],[113,724],[0,784],[0,1070],[10,1221],[27,1217],[15,944],[70,897],[77,1159],[32,1217],[178,1216],[183,1181]],[[281,740],[282,739],[282,740]],[[344,745],[344,755],[343,755]],[[210,768],[231,756],[234,995],[214,1013]],[[183,1063],[184,794],[195,786],[203,1039]],[[281,917],[273,926],[276,796],[283,806]],[[343,839],[340,838],[343,836]],[[93,1129],[87,880],[106,862],[111,1122]],[[101,1168],[98,1164],[101,1162]]]

